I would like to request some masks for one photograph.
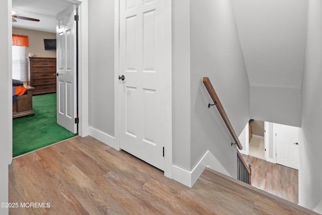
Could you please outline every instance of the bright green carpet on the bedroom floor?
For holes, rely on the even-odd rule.
[[[56,93],[32,97],[34,115],[13,119],[13,157],[75,136],[57,124]]]

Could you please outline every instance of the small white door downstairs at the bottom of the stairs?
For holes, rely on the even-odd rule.
[[[276,163],[298,170],[298,127],[276,124]]]

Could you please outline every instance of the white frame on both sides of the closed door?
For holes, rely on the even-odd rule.
[[[118,142],[118,150],[120,150],[120,83],[118,77],[120,75],[120,1],[115,0],[115,40],[114,40],[114,104],[115,104],[115,131],[118,135],[115,135],[116,141]],[[164,12],[165,20],[165,40],[169,45],[165,47],[165,170],[164,174],[166,177],[172,178],[172,1],[165,1],[166,10]]]

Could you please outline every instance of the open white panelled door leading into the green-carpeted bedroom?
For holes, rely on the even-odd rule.
[[[57,15],[57,123],[76,133],[76,6]]]

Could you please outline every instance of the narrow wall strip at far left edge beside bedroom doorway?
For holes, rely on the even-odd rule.
[[[2,1],[0,3],[0,64],[2,67],[2,74],[0,79],[0,86],[2,93],[0,94],[0,202],[8,202],[8,164],[12,159],[12,115],[8,114],[12,111],[12,73],[11,73],[11,18],[9,13],[11,10],[11,0]],[[10,22],[9,22],[10,21]],[[1,214],[8,214],[8,208],[0,208]]]

